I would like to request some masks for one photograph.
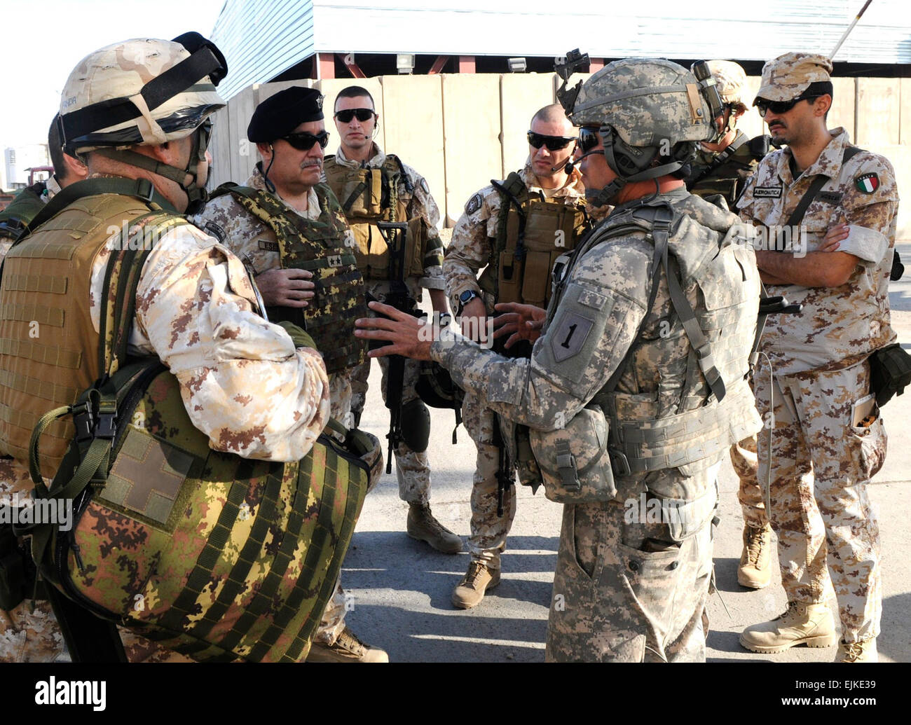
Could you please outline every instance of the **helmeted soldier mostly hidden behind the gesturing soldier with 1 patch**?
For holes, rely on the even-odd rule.
[[[747,138],[736,128],[737,119],[746,112],[743,94],[746,74],[730,60],[710,60],[711,77],[722,97],[724,112],[715,122],[722,138],[714,143],[701,142],[691,162],[687,189],[703,199],[723,200],[726,209],[743,191],[743,185],[756,170],[769,148],[769,137]],[[719,202],[722,203],[722,202]],[[731,446],[731,463],[740,479],[737,497],[743,512],[743,550],[737,567],[737,581],[743,587],[762,589],[769,585],[772,553],[772,526],[765,511],[765,494],[756,477],[756,438],[751,436]]]

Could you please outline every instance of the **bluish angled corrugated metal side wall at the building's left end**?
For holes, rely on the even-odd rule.
[[[212,40],[228,61],[219,93],[230,98],[312,56],[313,5],[309,0],[227,0]]]

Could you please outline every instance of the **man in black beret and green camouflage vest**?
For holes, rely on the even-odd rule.
[[[262,160],[244,188],[213,194],[197,223],[243,260],[271,318],[298,321],[308,330],[318,326],[333,336],[333,344],[321,346],[332,415],[350,423],[352,374],[365,352],[353,336],[353,321],[366,308],[348,223],[332,189],[320,183],[328,141],[322,96],[291,87],[266,98],[253,112],[247,136]],[[345,612],[339,585],[309,659],[387,661],[382,649],[367,647],[345,626]]]

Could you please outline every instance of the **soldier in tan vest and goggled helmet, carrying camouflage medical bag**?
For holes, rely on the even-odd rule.
[[[53,220],[36,223],[5,257],[0,505],[11,495],[30,495],[28,444],[36,421],[75,403],[74,391],[99,377],[107,263],[125,243],[111,228],[150,210],[167,213],[139,275],[129,353],[156,356],[169,368],[192,424],[216,451],[297,461],[329,418],[320,353],[296,347],[288,332],[267,322],[241,260],[179,217],[204,199],[209,117],[224,107],[215,84],[227,71],[215,46],[196,34],[181,38],[184,45],[135,39],[101,48],[80,61],[64,87],[64,143],[67,153],[86,159],[88,179],[67,189],[68,205],[58,203],[63,196],[48,202],[41,214]],[[165,74],[165,97],[155,84],[158,103],[149,109],[143,91]],[[36,318],[39,332],[29,335]],[[46,482],[73,437],[67,426],[52,426],[45,436]],[[31,605],[26,599],[0,612],[0,659],[40,658],[59,647],[48,609],[32,614]],[[156,648],[136,636],[125,644],[130,659]]]

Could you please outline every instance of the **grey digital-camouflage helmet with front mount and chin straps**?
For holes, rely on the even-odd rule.
[[[680,169],[698,141],[718,138],[712,119],[721,115],[722,100],[704,62],[694,74],[668,60],[626,58],[584,84],[566,86],[564,76],[558,98],[567,116],[577,126],[599,127],[604,157],[618,177],[593,190],[596,206],[609,203],[630,181]]]

